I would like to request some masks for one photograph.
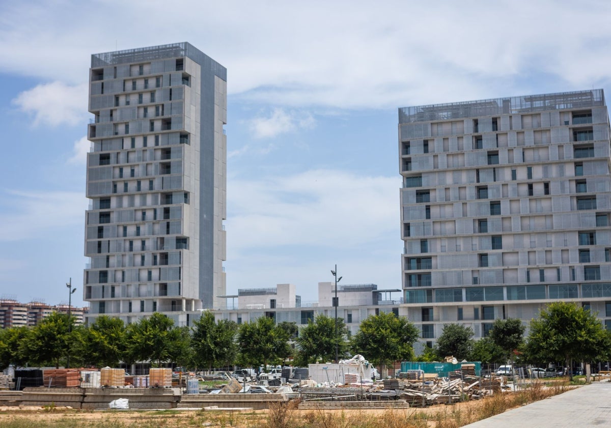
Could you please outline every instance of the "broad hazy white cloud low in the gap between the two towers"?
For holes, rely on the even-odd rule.
[[[239,239],[228,248],[345,247],[375,241],[399,230],[400,184],[396,177],[332,170],[230,180],[228,235]]]

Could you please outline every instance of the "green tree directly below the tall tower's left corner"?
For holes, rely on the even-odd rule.
[[[75,328],[75,355],[82,365],[117,367],[125,354],[125,335],[120,318],[98,316],[89,327]]]

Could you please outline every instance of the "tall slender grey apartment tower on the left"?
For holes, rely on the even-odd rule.
[[[92,55],[87,321],[224,304],[226,81],[189,43]]]

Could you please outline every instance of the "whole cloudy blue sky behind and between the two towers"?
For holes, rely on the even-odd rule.
[[[401,286],[397,107],[611,87],[609,1],[372,4],[0,1],[0,297],[82,302],[92,53],[227,67],[227,292],[304,302]]]

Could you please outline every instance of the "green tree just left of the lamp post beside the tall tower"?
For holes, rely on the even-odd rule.
[[[63,358],[72,347],[74,333],[70,332],[74,317],[51,313],[35,325],[28,340],[20,343],[19,352],[27,356],[33,365],[53,365],[59,368]]]

